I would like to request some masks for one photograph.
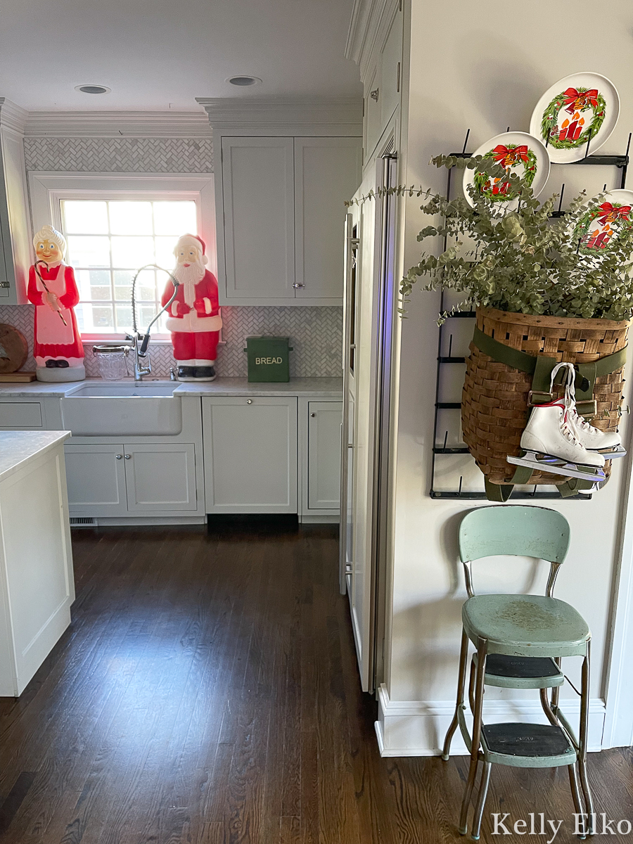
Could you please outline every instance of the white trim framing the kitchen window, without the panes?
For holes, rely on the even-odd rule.
[[[217,276],[215,192],[213,173],[82,173],[30,170],[30,210],[33,231],[43,225],[62,228],[62,199],[192,199],[197,230],[207,246],[208,269]],[[183,235],[185,232],[182,233]],[[123,334],[82,334],[82,340],[120,340]],[[169,342],[152,335],[152,342]]]

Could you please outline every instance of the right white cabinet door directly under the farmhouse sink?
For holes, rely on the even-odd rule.
[[[127,510],[197,510],[196,462],[191,443],[125,446]]]

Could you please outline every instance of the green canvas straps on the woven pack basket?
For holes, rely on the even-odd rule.
[[[489,358],[498,361],[499,363],[511,366],[513,369],[527,372],[532,376],[532,390],[530,398],[533,404],[546,403],[551,401],[550,385],[552,370],[556,365],[555,358],[550,358],[546,354],[527,354],[519,349],[511,349],[504,343],[500,343],[495,338],[489,337],[477,326],[474,328],[473,344],[477,346],[479,351],[487,354]],[[619,352],[609,354],[607,357],[595,360],[589,364],[575,364],[576,381],[574,387],[576,388],[576,404],[578,412],[582,414],[583,406],[586,412],[591,412],[589,408],[593,409],[595,413],[595,403],[593,403],[593,388],[598,376],[609,375],[620,367],[624,366],[626,362],[626,346],[620,349]],[[556,377],[556,382],[561,382],[565,374],[561,371],[560,375]],[[538,397],[543,400],[538,401]],[[527,466],[517,466],[512,479],[509,484],[493,484],[488,478],[485,478],[485,492],[486,498],[490,501],[506,501],[510,498],[511,492],[517,484],[527,484],[532,477],[533,469]],[[560,495],[564,498],[570,495],[577,495],[581,489],[589,490],[592,487],[590,481],[571,479],[565,484],[560,484],[558,490]]]

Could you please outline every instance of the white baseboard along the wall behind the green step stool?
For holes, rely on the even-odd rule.
[[[560,701],[565,717],[576,727],[580,701]],[[452,721],[455,701],[392,701],[387,687],[378,690],[376,737],[381,756],[438,756],[446,730]],[[587,749],[603,749],[605,705],[601,698],[589,701],[589,735]],[[538,699],[536,701],[488,701],[484,703],[484,721],[547,723]],[[459,729],[453,736],[451,755],[468,755]]]

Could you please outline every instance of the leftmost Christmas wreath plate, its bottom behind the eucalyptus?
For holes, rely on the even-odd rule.
[[[526,132],[504,132],[495,135],[490,141],[482,143],[473,155],[483,155],[505,167],[510,173],[517,173],[532,186],[535,197],[545,187],[549,176],[549,157],[544,145],[528,135]],[[464,170],[463,192],[468,203],[473,205],[473,199],[468,192],[468,185],[474,185],[479,192],[485,193],[494,203],[500,203],[503,208],[510,209],[517,205],[517,194],[511,190],[511,182],[503,179],[493,179],[485,173],[474,170]]]

